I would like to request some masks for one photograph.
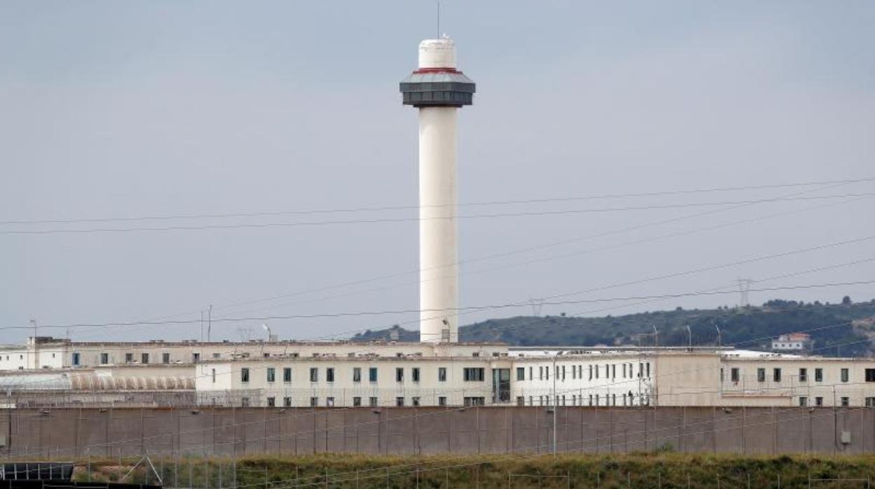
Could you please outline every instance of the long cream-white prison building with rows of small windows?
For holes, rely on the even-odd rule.
[[[72,386],[238,407],[875,407],[875,360],[732,348],[40,338],[0,352],[8,396]],[[58,381],[44,389],[36,372]]]

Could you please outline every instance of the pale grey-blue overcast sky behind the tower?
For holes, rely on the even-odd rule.
[[[463,203],[875,176],[875,3],[461,2],[443,31],[478,83],[459,117]],[[397,82],[434,3],[0,3],[0,220],[260,213],[416,203],[416,113]],[[461,214],[875,192],[875,183],[464,206]],[[732,207],[732,208],[731,208]],[[502,304],[875,234],[872,197],[462,220],[462,305]],[[664,220],[690,216],[668,224]],[[783,215],[775,215],[783,214]],[[0,325],[414,310],[416,222],[166,232],[34,229],[409,218],[415,210],[0,225]],[[722,226],[725,225],[725,226]],[[610,233],[629,227],[635,230]],[[600,237],[591,237],[606,234]],[[587,238],[589,237],[589,238]],[[587,238],[587,239],[584,239]],[[575,241],[571,241],[575,240]],[[544,248],[560,241],[564,244]],[[563,300],[732,288],[875,256],[862,241]],[[860,262],[753,288],[870,280]],[[320,290],[313,292],[313,290]],[[732,290],[732,289],[730,289]],[[871,284],[753,292],[836,302]],[[276,300],[251,302],[267,297]],[[545,306],[588,315],[737,304],[737,294]],[[230,304],[248,303],[236,306]],[[612,309],[606,310],[611,307]],[[528,314],[478,311],[464,323]],[[416,313],[275,319],[283,338]],[[238,339],[261,321],[216,322]],[[62,336],[64,329],[42,331]],[[29,331],[0,330],[0,342]],[[199,338],[200,325],[73,328]]]

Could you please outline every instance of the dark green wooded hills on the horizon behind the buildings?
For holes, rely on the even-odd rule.
[[[823,356],[865,356],[875,352],[875,299],[854,304],[803,304],[772,300],[762,306],[642,312],[625,316],[577,318],[560,316],[489,319],[459,328],[459,341],[501,341],[514,346],[548,345],[639,345],[654,344],[653,326],[661,346],[686,346],[686,326],[693,345],[717,344],[768,350],[771,337],[789,332],[808,332],[809,351]],[[821,328],[821,329],[818,329]],[[397,339],[418,341],[419,332],[398,326],[359,333],[353,341]]]

